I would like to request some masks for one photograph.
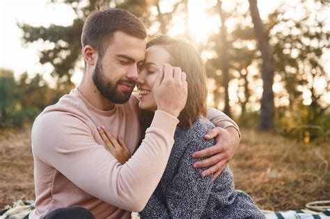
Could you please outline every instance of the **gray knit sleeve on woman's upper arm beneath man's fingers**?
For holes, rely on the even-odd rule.
[[[196,148],[210,147],[214,142],[205,140],[203,137],[195,139],[187,146],[180,160],[178,172],[164,191],[165,202],[157,200],[157,195],[155,197],[152,195],[152,199],[148,202],[159,205],[156,212],[162,218],[201,218],[203,216],[212,190],[212,176],[201,177],[204,169],[195,170],[192,167],[196,159],[193,159],[191,154],[196,151]],[[155,213],[155,209],[148,209],[148,211]]]

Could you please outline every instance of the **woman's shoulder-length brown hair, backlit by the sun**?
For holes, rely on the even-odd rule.
[[[180,120],[178,127],[188,129],[198,120],[198,117],[206,116],[207,113],[207,86],[203,60],[195,47],[185,39],[158,35],[148,42],[147,49],[154,45],[166,49],[172,56],[169,64],[180,67],[182,72],[187,74],[187,103],[178,117]],[[141,110],[140,123],[143,133],[150,126],[152,117],[153,113],[150,111]]]

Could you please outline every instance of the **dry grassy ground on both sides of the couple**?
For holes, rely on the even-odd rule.
[[[304,209],[308,202],[330,200],[328,143],[299,143],[274,133],[242,130],[230,168],[237,189],[249,193],[260,209]],[[33,200],[31,134],[0,133],[0,209],[14,200]]]

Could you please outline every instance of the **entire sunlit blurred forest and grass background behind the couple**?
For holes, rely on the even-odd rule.
[[[330,200],[329,1],[1,0],[0,208],[34,198],[31,124],[79,84],[81,28],[95,8],[124,8],[150,36],[194,43],[208,105],[242,128],[237,188],[261,208]]]

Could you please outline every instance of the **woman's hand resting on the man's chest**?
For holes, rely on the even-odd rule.
[[[129,159],[129,152],[126,144],[120,136],[113,137],[113,135],[104,126],[97,127],[101,138],[105,143],[105,148],[121,163],[124,164]]]

